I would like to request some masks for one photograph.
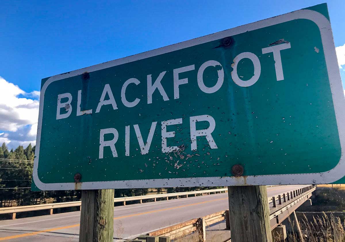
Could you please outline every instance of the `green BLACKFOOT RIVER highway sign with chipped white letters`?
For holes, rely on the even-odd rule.
[[[344,107],[321,4],[43,79],[34,185],[332,183]]]

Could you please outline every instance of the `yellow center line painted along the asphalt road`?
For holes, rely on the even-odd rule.
[[[215,201],[220,201],[220,200],[226,200],[226,199],[228,199],[228,198],[218,198],[218,199],[213,199],[213,200],[204,201],[204,202],[196,202],[196,203],[191,203],[191,204],[185,204],[185,205],[181,205],[181,206],[177,206],[177,207],[171,207],[171,208],[164,208],[164,209],[152,210],[152,211],[142,212],[142,213],[135,213],[135,214],[125,215],[125,216],[115,217],[114,220],[115,220],[115,219],[130,218],[130,217],[139,216],[139,215],[144,215],[144,214],[149,214],[149,213],[168,211],[168,210],[172,210],[172,209],[184,208],[184,207],[194,206],[194,205],[198,205],[198,204],[204,204],[204,203],[208,203],[208,202],[215,202]],[[140,207],[138,207],[138,208],[140,208]],[[40,233],[51,232],[51,231],[60,230],[60,229],[74,228],[74,227],[78,227],[79,225],[80,225],[80,224],[78,223],[78,224],[68,225],[68,226],[64,226],[64,227],[57,227],[57,228],[52,228],[52,229],[46,229],[46,230],[41,230],[41,231],[35,231],[35,232],[31,232],[31,233],[17,234],[17,235],[12,235],[12,236],[7,236],[7,237],[0,237],[0,241],[1,241],[1,240],[18,239],[18,238],[22,238],[22,237],[37,235],[37,234],[40,234]]]

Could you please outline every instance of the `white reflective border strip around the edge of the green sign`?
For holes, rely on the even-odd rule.
[[[313,21],[319,28],[325,54],[328,78],[331,86],[333,105],[337,120],[339,139],[341,144],[341,158],[338,164],[331,170],[321,173],[300,173],[300,174],[280,174],[280,175],[258,175],[245,177],[194,177],[194,178],[170,178],[170,179],[145,179],[145,180],[121,180],[121,181],[96,181],[96,182],[66,182],[66,183],[43,183],[38,177],[38,162],[40,152],[41,127],[43,115],[43,103],[45,91],[52,82],[80,75],[84,72],[94,72],[108,67],[117,66],[132,61],[142,60],[151,56],[156,56],[171,51],[176,51],[190,46],[206,43],[213,40],[219,40],[228,36],[241,34],[247,31],[257,30],[269,27],[275,24],[297,20],[307,19]],[[125,58],[117,59],[93,65],[76,71],[55,75],[50,77],[42,86],[40,94],[39,119],[36,141],[36,158],[33,165],[33,181],[40,190],[85,190],[85,189],[114,189],[114,188],[150,188],[150,187],[194,187],[194,186],[242,186],[242,185],[290,185],[290,184],[322,184],[331,183],[341,179],[345,174],[345,161],[343,152],[345,146],[345,99],[342,88],[340,72],[333,41],[331,23],[321,13],[313,10],[297,10],[291,13],[279,15],[277,17],[249,23],[236,28],[209,34],[196,39],[184,41],[181,43],[168,45],[159,49],[131,55]],[[76,185],[77,184],[77,185]]]

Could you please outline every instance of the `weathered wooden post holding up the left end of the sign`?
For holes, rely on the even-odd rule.
[[[79,242],[112,242],[114,189],[82,190]]]

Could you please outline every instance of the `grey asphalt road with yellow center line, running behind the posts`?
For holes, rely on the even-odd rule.
[[[303,187],[268,187],[268,197]],[[115,207],[114,241],[228,209],[228,193]],[[80,211],[0,221],[0,241],[70,242],[79,238]]]

